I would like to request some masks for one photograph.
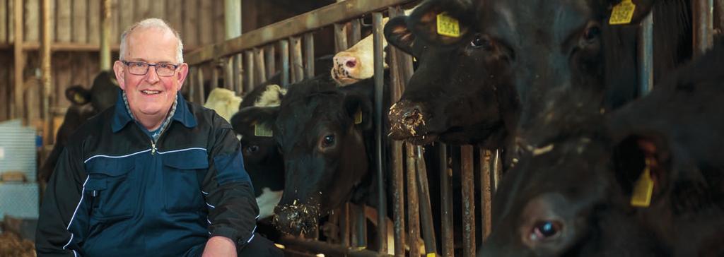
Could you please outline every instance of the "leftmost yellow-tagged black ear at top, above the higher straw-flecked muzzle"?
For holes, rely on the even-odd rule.
[[[407,19],[408,28],[433,46],[451,46],[471,33],[473,4],[469,0],[425,1]]]

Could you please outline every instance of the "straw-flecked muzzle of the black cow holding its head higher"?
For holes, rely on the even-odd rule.
[[[429,132],[429,115],[419,104],[400,101],[390,107],[390,138],[405,140],[416,145],[432,143],[437,138]]]

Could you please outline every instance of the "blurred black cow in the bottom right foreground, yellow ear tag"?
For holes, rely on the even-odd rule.
[[[722,256],[723,65],[719,42],[607,117],[591,104],[602,96],[559,93],[524,133],[479,256]]]

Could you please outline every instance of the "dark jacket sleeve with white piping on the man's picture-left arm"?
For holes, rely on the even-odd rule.
[[[83,200],[85,174],[80,155],[65,148],[51,175],[41,205],[35,250],[38,256],[80,256],[88,231],[88,206]]]

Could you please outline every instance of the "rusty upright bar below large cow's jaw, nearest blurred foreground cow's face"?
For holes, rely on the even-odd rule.
[[[490,235],[490,229],[492,219],[490,219],[491,213],[491,193],[492,185],[490,183],[490,174],[492,170],[492,152],[486,149],[480,149],[480,211],[482,222],[481,224],[481,236],[483,239]]]

